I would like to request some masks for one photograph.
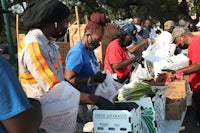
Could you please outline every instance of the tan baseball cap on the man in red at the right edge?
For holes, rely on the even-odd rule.
[[[171,43],[174,42],[174,40],[181,36],[183,33],[188,32],[188,29],[185,27],[181,27],[181,26],[177,26],[173,29],[172,31],[172,39],[171,39]]]

